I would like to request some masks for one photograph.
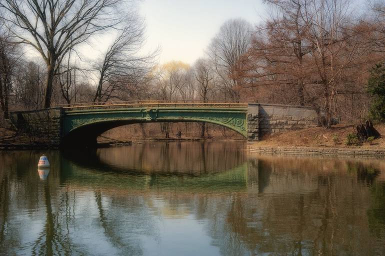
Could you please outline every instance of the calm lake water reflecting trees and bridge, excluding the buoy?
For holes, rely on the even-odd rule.
[[[244,147],[0,151],[0,254],[385,255],[385,160]]]

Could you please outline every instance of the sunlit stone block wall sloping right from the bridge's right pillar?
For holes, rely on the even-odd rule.
[[[259,104],[259,136],[287,130],[315,127],[317,113],[307,107]]]

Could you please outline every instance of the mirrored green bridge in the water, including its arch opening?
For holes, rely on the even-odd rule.
[[[242,144],[174,141],[99,148],[87,154],[63,151],[62,168],[73,181],[92,185],[102,180],[115,189],[239,190],[247,187]]]

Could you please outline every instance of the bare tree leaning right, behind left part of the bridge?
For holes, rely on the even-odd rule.
[[[150,77],[158,49],[146,55],[139,50],[144,43],[144,23],[131,13],[125,26],[108,47],[102,60],[94,65],[98,82],[93,101],[107,101],[116,90],[133,92],[139,82]]]

